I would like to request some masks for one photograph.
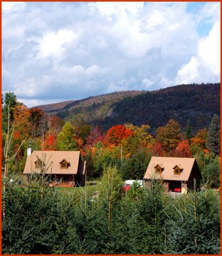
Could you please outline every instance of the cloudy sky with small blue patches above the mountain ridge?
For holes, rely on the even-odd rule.
[[[28,107],[220,81],[219,3],[3,2],[3,93]]]

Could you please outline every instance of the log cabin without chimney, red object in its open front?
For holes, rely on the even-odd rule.
[[[151,179],[162,179],[166,192],[187,193],[187,189],[200,188],[202,175],[195,158],[152,157],[143,179],[149,187]]]

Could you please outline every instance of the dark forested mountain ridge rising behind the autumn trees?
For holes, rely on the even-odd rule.
[[[65,120],[81,118],[88,124],[109,129],[112,125],[148,124],[151,132],[173,118],[183,127],[189,120],[193,132],[208,127],[219,116],[220,84],[181,84],[150,92],[116,92],[75,100],[63,108],[38,106]],[[56,105],[56,104],[54,104]]]

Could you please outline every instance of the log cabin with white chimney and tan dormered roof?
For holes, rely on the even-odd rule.
[[[84,186],[86,161],[81,161],[80,151],[40,151],[28,148],[23,174],[27,180],[31,173],[49,177],[51,186]]]

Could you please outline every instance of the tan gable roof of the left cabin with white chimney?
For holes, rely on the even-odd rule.
[[[24,174],[36,172],[40,170],[36,168],[35,162],[37,159],[42,162],[45,161],[46,168],[51,164],[46,173],[52,174],[84,174],[83,168],[85,168],[85,161],[80,161],[80,151],[44,151],[34,150],[30,156],[27,156],[26,166],[24,168]],[[60,166],[61,161],[67,161],[69,163],[68,168],[62,168]]]

